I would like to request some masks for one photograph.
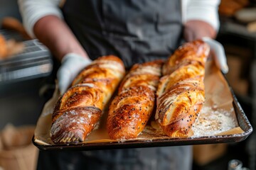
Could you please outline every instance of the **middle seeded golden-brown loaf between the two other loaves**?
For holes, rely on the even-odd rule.
[[[111,139],[132,139],[142,132],[154,110],[162,64],[160,60],[134,64],[124,77],[108,112]]]

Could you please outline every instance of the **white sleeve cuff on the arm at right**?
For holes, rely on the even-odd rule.
[[[218,30],[220,21],[218,18],[218,6],[220,0],[185,0],[183,21],[202,20],[210,23],[215,30]]]

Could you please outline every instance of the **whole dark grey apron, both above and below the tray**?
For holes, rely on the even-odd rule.
[[[65,21],[92,60],[132,64],[166,59],[180,45],[180,0],[67,0]],[[38,169],[191,169],[191,146],[40,152]]]

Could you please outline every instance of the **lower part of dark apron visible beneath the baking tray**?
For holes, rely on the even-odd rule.
[[[39,152],[38,170],[190,170],[192,147]]]

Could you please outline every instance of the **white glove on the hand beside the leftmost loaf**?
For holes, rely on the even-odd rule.
[[[63,57],[63,60],[61,60],[61,66],[57,72],[60,94],[65,93],[68,86],[70,86],[78,73],[91,62],[92,60],[75,53],[68,53]]]

